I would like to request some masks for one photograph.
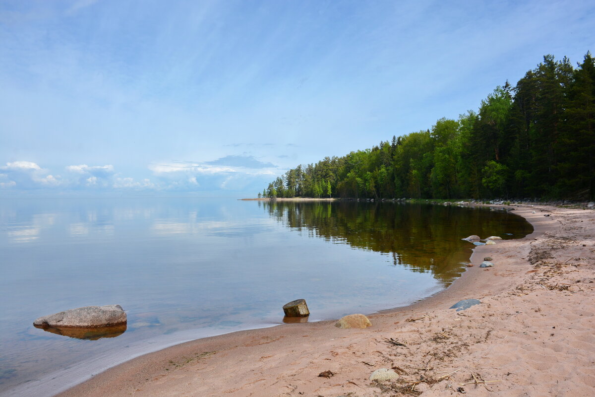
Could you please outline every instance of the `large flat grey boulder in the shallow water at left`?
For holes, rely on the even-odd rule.
[[[120,305],[85,306],[39,317],[37,328],[94,328],[126,324],[126,312]]]

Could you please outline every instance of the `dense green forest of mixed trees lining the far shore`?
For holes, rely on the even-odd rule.
[[[595,62],[552,55],[479,110],[298,165],[259,197],[595,198]]]

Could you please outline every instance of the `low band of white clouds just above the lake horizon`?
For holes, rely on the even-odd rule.
[[[32,161],[7,162],[0,167],[0,189],[76,192],[247,192],[279,173],[271,163],[248,155],[227,156],[198,163],[171,161],[149,164],[151,178],[134,179],[113,165],[67,165],[58,173]],[[252,190],[247,190],[252,189]]]

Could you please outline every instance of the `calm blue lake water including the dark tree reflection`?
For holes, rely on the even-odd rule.
[[[0,395],[52,395],[165,346],[273,326],[297,298],[310,321],[411,304],[460,276],[462,237],[532,230],[506,212],[393,202],[0,200]],[[126,332],[32,326],[105,304],[124,307]]]

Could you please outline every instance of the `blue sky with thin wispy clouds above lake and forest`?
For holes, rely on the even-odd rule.
[[[0,197],[253,197],[595,51],[593,1],[0,2]]]

